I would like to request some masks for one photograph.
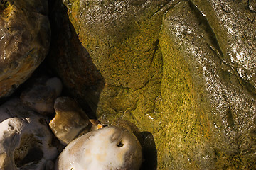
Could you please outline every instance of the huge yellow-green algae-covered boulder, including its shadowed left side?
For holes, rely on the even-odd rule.
[[[158,169],[256,166],[253,1],[63,1],[55,12],[50,60],[65,86],[103,123],[151,132]]]

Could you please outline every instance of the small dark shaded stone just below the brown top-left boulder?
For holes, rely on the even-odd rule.
[[[62,83],[58,77],[47,79],[32,84],[32,86],[21,93],[21,101],[33,108],[38,113],[49,115],[54,113],[54,101],[60,96]]]

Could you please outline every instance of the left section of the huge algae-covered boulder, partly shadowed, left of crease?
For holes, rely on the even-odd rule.
[[[53,23],[64,30],[56,31],[58,49],[51,50],[50,62],[80,103],[87,101],[97,117],[103,115],[102,122],[152,114],[146,115],[150,123],[145,125],[159,128],[151,118],[156,117],[154,101],[160,94],[158,35],[168,3],[63,1],[65,6],[55,9]],[[68,18],[61,20],[60,13]]]

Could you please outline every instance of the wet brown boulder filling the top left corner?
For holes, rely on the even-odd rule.
[[[0,2],[0,98],[9,96],[48,53],[47,1]]]

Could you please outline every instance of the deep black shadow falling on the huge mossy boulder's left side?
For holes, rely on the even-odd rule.
[[[105,79],[80,42],[62,1],[49,1],[49,6],[52,40],[46,61],[63,81],[62,96],[73,96],[90,118],[96,118]]]

